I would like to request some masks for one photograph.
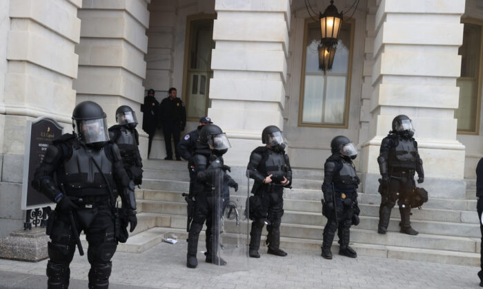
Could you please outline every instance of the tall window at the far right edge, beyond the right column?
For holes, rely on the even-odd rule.
[[[460,47],[461,77],[456,85],[460,87],[460,103],[455,110],[458,133],[477,133],[480,126],[482,26],[464,23],[463,45]]]

